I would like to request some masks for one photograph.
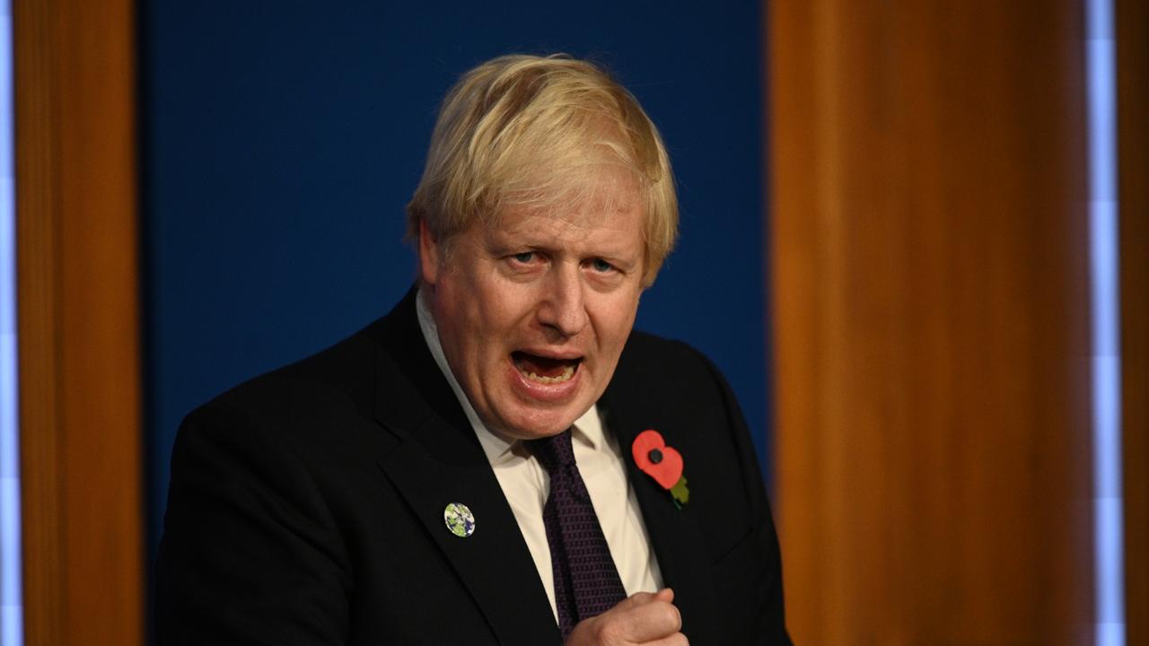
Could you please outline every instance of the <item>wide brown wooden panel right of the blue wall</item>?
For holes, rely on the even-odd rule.
[[[1080,2],[768,10],[795,641],[1090,643]]]

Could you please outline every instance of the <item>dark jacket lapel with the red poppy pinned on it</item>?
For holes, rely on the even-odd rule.
[[[625,354],[624,354],[625,357]],[[619,372],[616,371],[616,380]],[[642,510],[647,535],[658,557],[663,585],[674,591],[674,605],[683,615],[683,632],[693,643],[710,644],[715,631],[715,607],[710,568],[705,546],[699,533],[689,505],[679,509],[671,500],[670,492],[662,489],[650,476],[643,474],[631,455],[634,438],[649,426],[649,420],[633,406],[642,398],[627,397],[625,386],[615,382],[599,400],[599,409],[604,425],[618,438],[618,445],[626,462],[626,472],[635,498]],[[670,446],[676,445],[685,429],[665,426],[657,429]],[[687,478],[691,475],[691,456],[684,455]]]

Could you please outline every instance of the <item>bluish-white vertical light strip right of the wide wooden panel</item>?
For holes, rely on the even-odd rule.
[[[1086,6],[1096,646],[1125,645],[1117,102],[1112,0]]]

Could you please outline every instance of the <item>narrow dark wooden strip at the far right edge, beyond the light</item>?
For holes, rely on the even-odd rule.
[[[1149,644],[1149,5],[1117,0],[1125,605],[1128,644]]]

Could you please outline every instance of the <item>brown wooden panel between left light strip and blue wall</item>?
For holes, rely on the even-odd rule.
[[[13,3],[29,644],[142,641],[133,15]]]

